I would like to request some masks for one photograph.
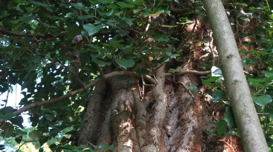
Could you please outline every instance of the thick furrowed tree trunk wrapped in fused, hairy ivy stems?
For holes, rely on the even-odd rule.
[[[186,30],[191,31],[193,25]],[[200,25],[198,22],[193,39],[209,41],[207,23]],[[196,47],[202,45],[206,47]],[[200,76],[165,77],[164,73],[177,65],[183,70],[200,70],[197,65],[211,57],[206,51],[208,45],[202,42],[191,42],[189,49],[184,53],[185,63],[171,60],[155,73],[158,84],[145,86],[143,100],[140,99],[138,80],[132,78],[117,77],[96,85],[78,145],[113,144],[113,152],[241,151],[237,137],[216,137],[204,132],[207,127],[215,131],[215,126],[203,120],[223,119],[225,106],[211,103],[204,97],[206,90],[211,90],[201,84]],[[196,85],[199,91],[190,93],[186,90],[189,85]],[[216,110],[210,111],[210,108]]]

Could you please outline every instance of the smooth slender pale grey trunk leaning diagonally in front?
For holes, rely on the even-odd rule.
[[[221,0],[203,0],[229,101],[245,151],[268,151],[260,121],[243,72],[236,41]]]

